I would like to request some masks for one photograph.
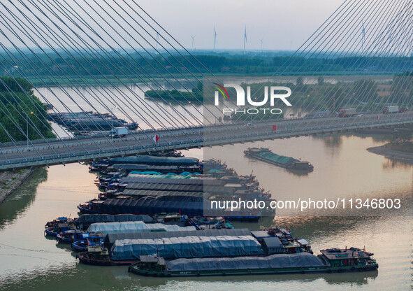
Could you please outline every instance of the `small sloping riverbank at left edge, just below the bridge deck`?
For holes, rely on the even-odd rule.
[[[22,185],[24,180],[34,173],[33,169],[23,169],[20,171],[4,171],[0,173],[0,204],[10,195],[17,187]]]

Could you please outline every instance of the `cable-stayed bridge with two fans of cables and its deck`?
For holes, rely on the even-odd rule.
[[[0,5],[0,71],[8,78],[0,79],[0,136],[6,140],[0,170],[413,123],[412,1],[344,1],[273,72],[290,76],[284,85],[293,87],[295,104],[282,108],[284,118],[251,115],[232,122],[217,122],[222,107],[203,102],[214,90],[198,85],[221,79],[136,1]],[[333,74],[342,80],[317,78]],[[388,80],[374,84],[384,75]],[[46,112],[18,78],[52,109]],[[153,90],[156,101],[143,97],[145,90]],[[244,108],[234,101],[225,106]],[[383,111],[394,106],[393,113]],[[343,108],[354,113],[340,118]],[[106,125],[88,114],[76,120],[89,111]],[[297,112],[303,117],[291,118]],[[94,134],[65,137],[71,124],[62,113],[73,116],[81,132]],[[140,128],[113,139],[107,129],[120,118]]]

